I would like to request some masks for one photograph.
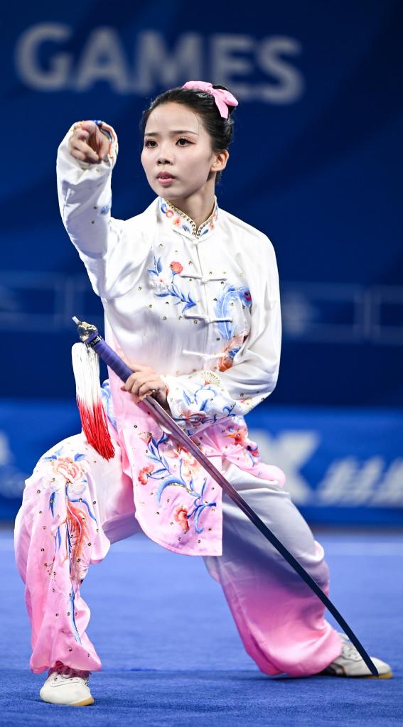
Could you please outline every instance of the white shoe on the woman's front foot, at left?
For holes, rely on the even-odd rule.
[[[68,667],[52,670],[41,688],[39,696],[43,702],[68,704],[70,707],[94,704],[94,697],[89,691],[89,674],[87,676],[87,673],[77,672]]]

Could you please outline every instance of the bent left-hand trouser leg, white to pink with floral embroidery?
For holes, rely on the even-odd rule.
[[[59,662],[75,670],[100,669],[85,633],[89,608],[80,585],[111,540],[138,530],[116,442],[115,450],[107,461],[82,434],[74,435],[41,457],[26,483],[15,522],[15,555],[31,620],[33,672]]]

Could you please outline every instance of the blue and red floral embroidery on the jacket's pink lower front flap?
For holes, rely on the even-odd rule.
[[[148,459],[151,459],[153,465],[143,467],[140,471],[140,475],[143,473],[142,479],[140,480],[140,475],[138,479],[142,484],[145,484],[145,482],[143,482],[145,477],[147,478],[147,481],[159,481],[159,486],[156,492],[156,498],[159,504],[161,503],[162,494],[167,487],[182,487],[188,495],[193,498],[193,501],[189,508],[186,508],[184,505],[178,507],[174,513],[174,520],[180,525],[183,532],[188,532],[190,529],[189,521],[193,518],[196,533],[202,533],[204,529],[199,523],[201,513],[203,513],[208,507],[216,507],[217,505],[216,502],[205,502],[203,499],[207,486],[207,478],[204,478],[201,489],[198,491],[193,478],[199,467],[194,466],[196,460],[192,454],[182,446],[177,447],[175,450],[175,457],[177,457],[179,464],[179,471],[175,472],[172,467],[169,467],[167,458],[164,457],[164,454],[161,451],[162,446],[165,443],[169,443],[169,447],[171,446],[169,438],[165,433],[163,433],[158,440],[153,436],[151,437],[151,441],[148,443],[147,456]],[[199,465],[198,462],[196,464]]]

